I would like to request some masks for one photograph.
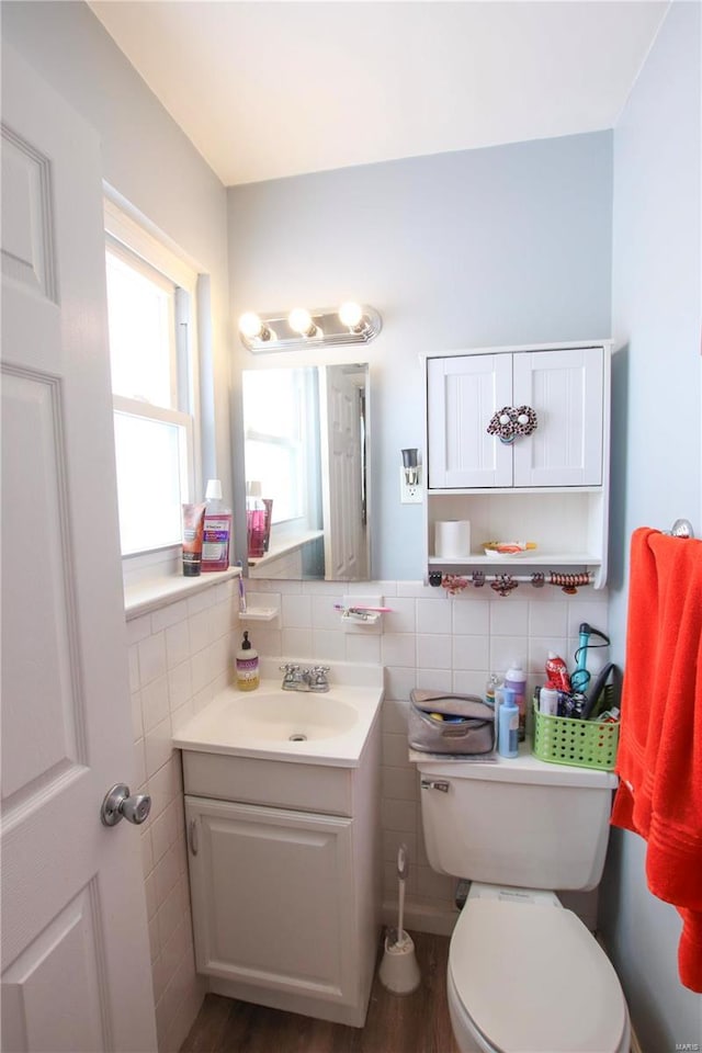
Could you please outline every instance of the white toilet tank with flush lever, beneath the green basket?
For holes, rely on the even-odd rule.
[[[607,842],[612,772],[548,765],[531,755],[437,761],[412,751],[433,870],[530,888],[593,888]]]

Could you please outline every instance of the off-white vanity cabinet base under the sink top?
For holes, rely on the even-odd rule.
[[[380,721],[355,768],[183,750],[210,990],[363,1026],[381,931],[378,751]]]

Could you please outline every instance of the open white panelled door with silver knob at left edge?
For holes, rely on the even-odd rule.
[[[94,133],[2,63],[2,1049],[156,1048]]]

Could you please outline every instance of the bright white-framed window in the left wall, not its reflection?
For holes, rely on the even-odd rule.
[[[181,540],[196,482],[196,274],[111,202],[105,268],[122,554]]]

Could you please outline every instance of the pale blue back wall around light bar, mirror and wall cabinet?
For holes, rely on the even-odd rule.
[[[347,298],[383,315],[383,332],[360,352],[371,363],[373,576],[416,580],[426,569],[423,509],[399,503],[398,473],[400,449],[422,444],[420,355],[610,335],[612,135],[411,158],[228,193],[233,317]],[[344,360],[348,348],[325,352],[325,361]],[[236,364],[261,362],[239,349]]]

